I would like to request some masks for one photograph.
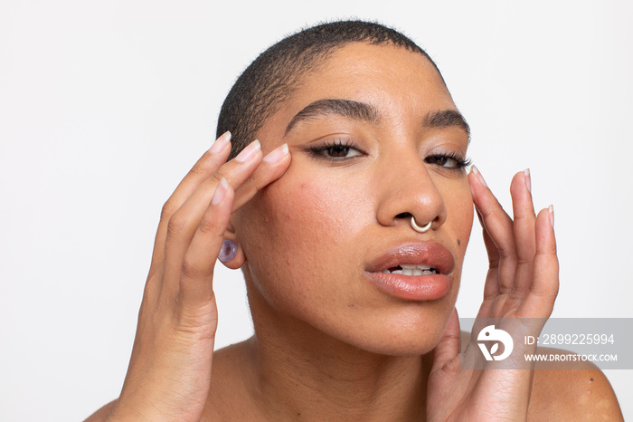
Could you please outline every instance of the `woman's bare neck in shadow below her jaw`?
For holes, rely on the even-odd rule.
[[[428,365],[422,357],[360,350],[304,321],[280,316],[249,294],[254,401],[270,418],[423,420]]]

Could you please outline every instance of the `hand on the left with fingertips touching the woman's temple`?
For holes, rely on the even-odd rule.
[[[236,158],[227,132],[163,207],[137,335],[109,420],[199,420],[211,384],[218,312],[213,267],[231,212],[284,174],[282,145],[262,158],[255,141]]]

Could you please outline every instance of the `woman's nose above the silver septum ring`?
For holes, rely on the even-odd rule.
[[[386,160],[385,160],[386,161]],[[447,209],[429,168],[417,155],[385,162],[376,183],[380,186],[377,219],[381,225],[410,225],[411,216],[420,227],[444,224]]]

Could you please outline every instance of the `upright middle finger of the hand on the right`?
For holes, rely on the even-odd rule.
[[[530,170],[517,173],[512,179],[510,193],[512,194],[513,216],[515,220],[516,272],[515,286],[512,294],[522,298],[532,283],[532,267],[534,261],[535,235],[534,205],[530,188]]]

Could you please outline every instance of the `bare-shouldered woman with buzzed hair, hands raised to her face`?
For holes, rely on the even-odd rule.
[[[468,124],[402,34],[288,37],[218,131],[165,204],[128,376],[93,420],[621,418],[597,369],[459,368],[481,360],[454,308],[472,204],[490,259],[478,316],[507,321],[552,312],[553,208],[535,216],[519,172],[513,222],[467,175]],[[213,352],[218,257],[244,273],[255,335]]]

